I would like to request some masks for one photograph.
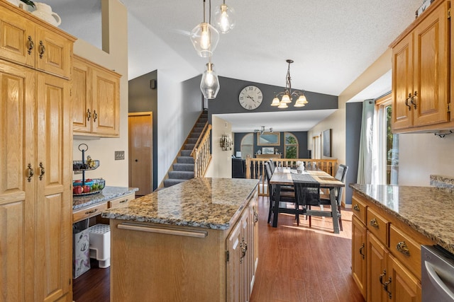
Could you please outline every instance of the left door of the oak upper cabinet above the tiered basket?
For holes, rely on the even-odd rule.
[[[74,132],[92,132],[92,71],[87,64],[74,59],[72,68],[72,129]]]

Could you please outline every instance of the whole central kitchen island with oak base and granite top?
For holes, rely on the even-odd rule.
[[[194,178],[104,210],[111,301],[247,301],[257,202],[258,180]]]

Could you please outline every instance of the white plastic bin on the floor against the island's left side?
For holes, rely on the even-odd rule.
[[[109,224],[95,224],[89,227],[90,258],[98,260],[99,267],[111,265],[111,228]]]

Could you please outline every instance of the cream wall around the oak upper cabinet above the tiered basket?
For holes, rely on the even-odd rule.
[[[99,160],[99,168],[86,173],[87,178],[104,178],[108,186],[128,187],[128,28],[126,7],[118,0],[102,0],[103,10],[109,15],[109,50],[106,53],[97,47],[77,40],[74,54],[87,58],[121,74],[120,80],[120,137],[117,139],[74,139],[73,158],[81,160],[79,144],[87,144],[85,156]],[[115,161],[115,151],[125,151],[123,161]],[[81,175],[74,175],[74,179]]]

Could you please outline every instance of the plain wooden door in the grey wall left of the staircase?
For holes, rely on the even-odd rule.
[[[153,192],[153,112],[128,115],[129,186],[138,187],[135,196]]]

